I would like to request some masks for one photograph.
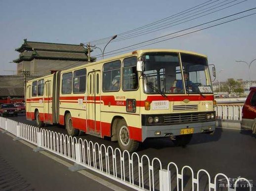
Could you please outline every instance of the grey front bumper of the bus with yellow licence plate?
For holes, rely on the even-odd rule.
[[[193,134],[203,132],[210,133],[213,132],[215,128],[215,121],[167,126],[142,126],[142,142],[148,137],[170,137],[181,135],[186,131],[189,133],[192,132]]]

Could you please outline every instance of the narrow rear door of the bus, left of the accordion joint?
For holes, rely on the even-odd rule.
[[[44,96],[43,96],[43,121],[44,123],[51,124],[52,123],[52,114],[51,114],[51,107],[52,107],[52,101],[51,101],[51,81],[46,81],[44,84]]]

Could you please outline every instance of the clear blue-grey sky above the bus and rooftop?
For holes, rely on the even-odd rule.
[[[28,41],[65,44],[92,42],[142,27],[206,1],[209,0],[0,0],[0,75],[12,75],[12,71],[4,70],[16,70],[16,64],[8,61],[18,58],[15,48],[20,47],[25,38]],[[241,3],[135,38],[117,41],[121,37],[118,35],[105,52],[256,7],[256,0],[242,1],[210,0],[216,6],[225,2],[230,2],[229,5]],[[256,13],[256,9],[242,15],[249,13]],[[95,45],[101,49],[105,46]],[[256,15],[143,47],[147,48],[181,49],[205,54],[209,64],[215,64],[220,81],[227,78],[249,80],[248,66],[235,61],[250,63],[256,59]],[[92,56],[99,54],[99,49],[95,49]],[[256,61],[252,63],[250,72],[251,80],[256,80]]]

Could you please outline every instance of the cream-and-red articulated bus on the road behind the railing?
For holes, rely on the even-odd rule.
[[[111,137],[133,152],[149,137],[186,145],[215,130],[215,101],[205,55],[152,49],[57,71],[30,80],[26,117]]]

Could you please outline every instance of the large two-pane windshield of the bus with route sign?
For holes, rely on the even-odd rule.
[[[207,59],[181,53],[180,60],[178,53],[144,54],[145,93],[213,94]]]

